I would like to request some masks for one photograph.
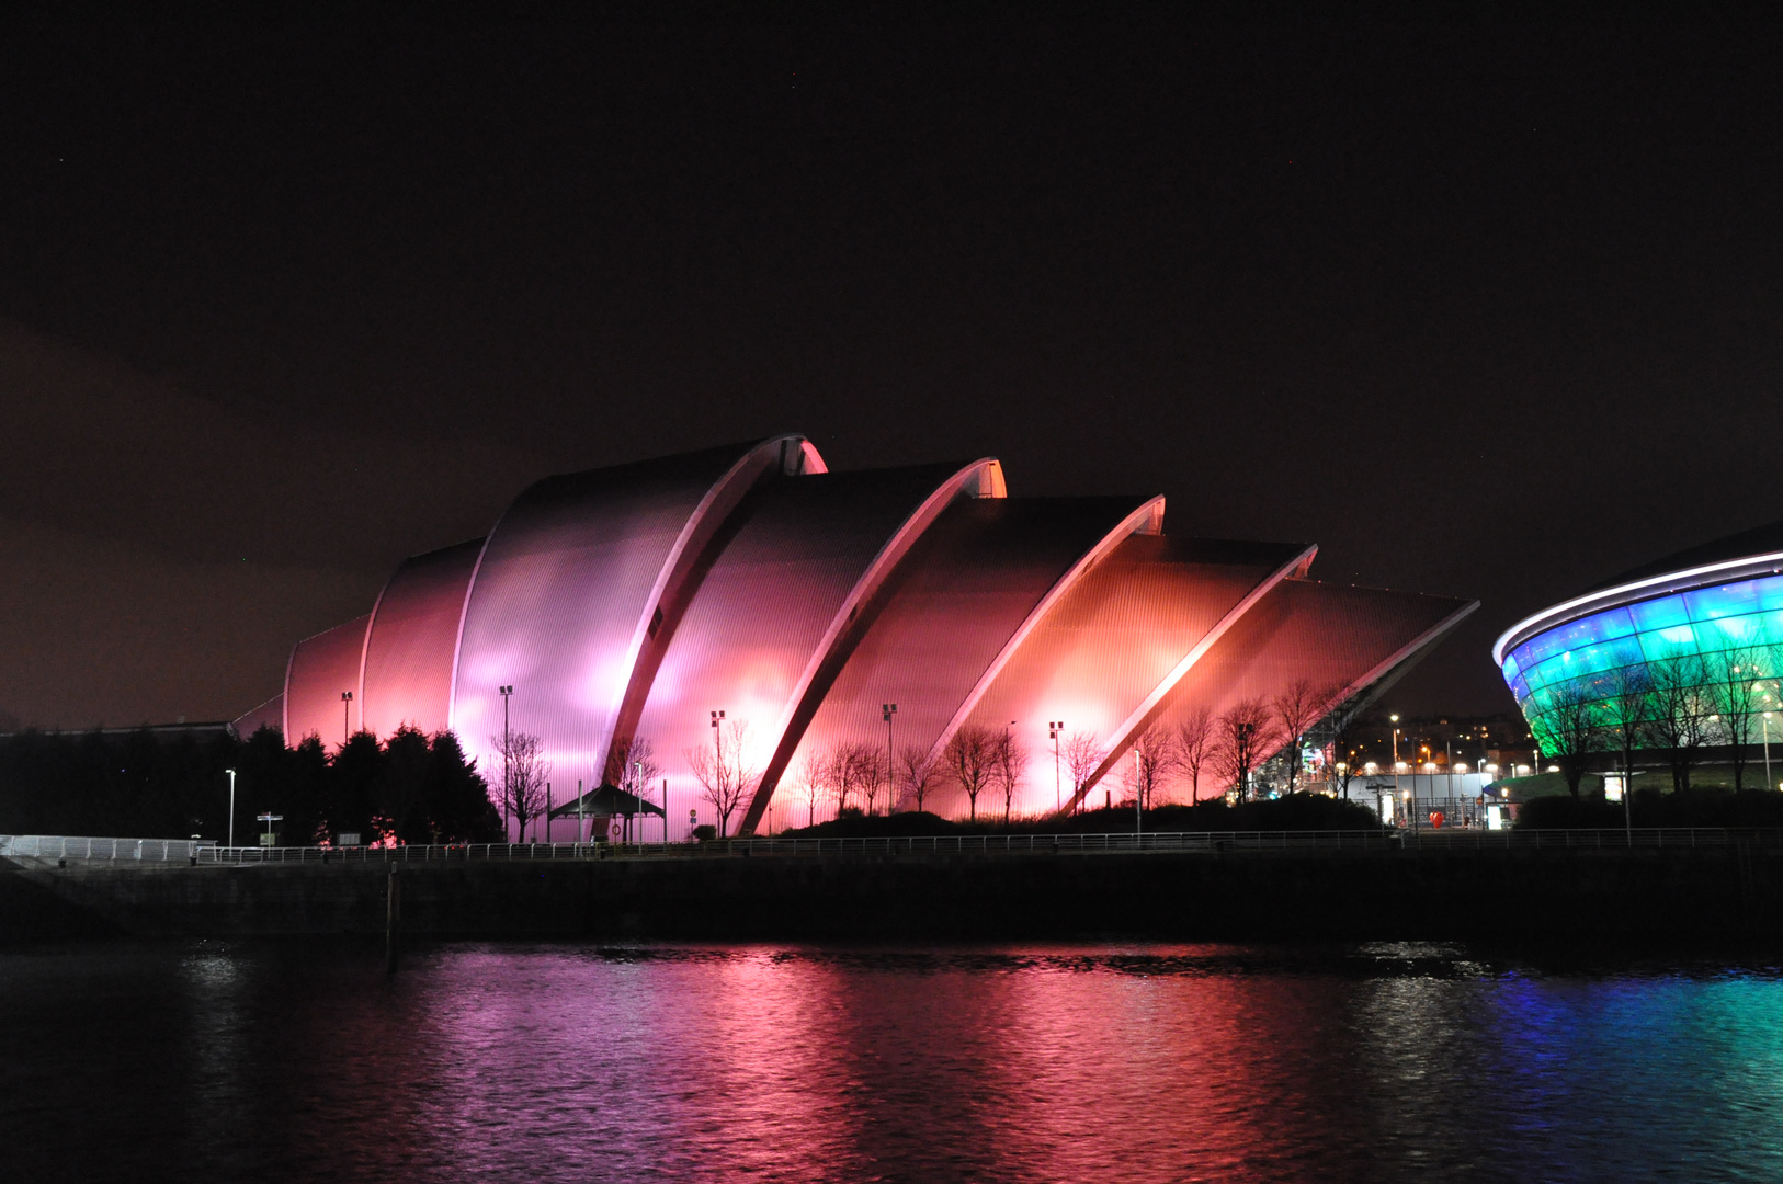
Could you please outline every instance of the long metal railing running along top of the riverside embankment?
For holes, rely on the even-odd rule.
[[[922,835],[897,838],[720,838],[703,843],[408,843],[398,847],[218,847],[203,840],[0,835],[0,856],[111,863],[446,863],[608,858],[1227,852],[1227,851],[1535,851],[1619,847],[1783,847],[1783,829],[1637,827],[1576,831],[1164,831],[1155,835]]]

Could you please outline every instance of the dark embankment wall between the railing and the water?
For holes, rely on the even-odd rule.
[[[414,936],[1783,936],[1783,851],[756,856],[401,865]],[[389,865],[0,870],[0,938],[383,933]]]

